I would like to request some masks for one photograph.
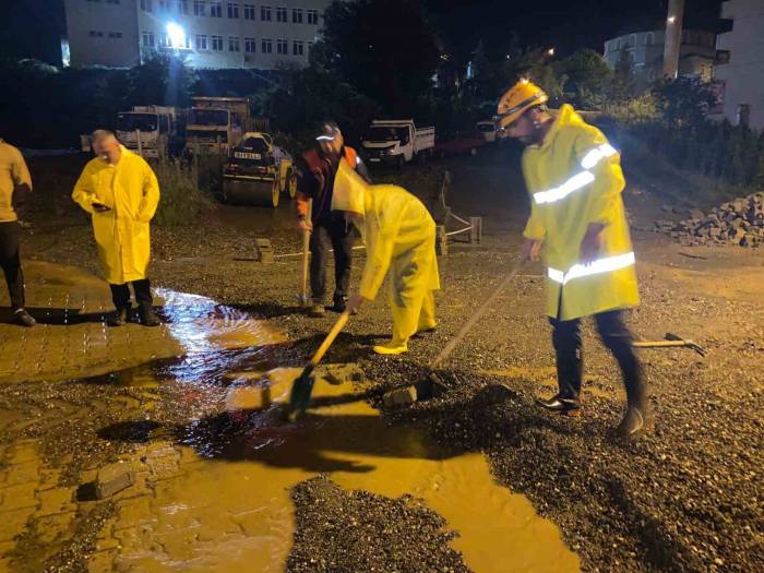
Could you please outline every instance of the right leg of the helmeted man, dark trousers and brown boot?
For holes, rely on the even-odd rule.
[[[642,365],[632,347],[634,337],[623,321],[623,312],[613,310],[595,315],[602,344],[612,353],[621,369],[629,408],[619,427],[625,434],[643,430],[652,421]]]

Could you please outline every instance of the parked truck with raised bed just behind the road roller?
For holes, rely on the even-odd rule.
[[[186,151],[228,154],[244,133],[267,131],[266,119],[252,116],[246,97],[194,97],[186,126]]]

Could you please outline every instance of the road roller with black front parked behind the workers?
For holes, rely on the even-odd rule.
[[[291,156],[274,145],[267,133],[246,133],[230,151],[223,171],[223,201],[275,208],[284,191],[290,199],[297,193]]]

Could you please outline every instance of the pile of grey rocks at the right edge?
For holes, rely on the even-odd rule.
[[[723,203],[709,213],[693,208],[688,219],[657,220],[655,226],[684,244],[764,244],[764,192]]]

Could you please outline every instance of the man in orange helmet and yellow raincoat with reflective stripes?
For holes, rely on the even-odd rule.
[[[523,175],[530,193],[525,253],[547,265],[547,314],[553,329],[559,391],[538,403],[575,415],[583,377],[581,319],[594,317],[602,343],[618,360],[628,409],[618,430],[633,435],[652,421],[642,368],[623,322],[638,305],[634,251],[621,191],[618,152],[571,106],[552,116],[547,95],[528,81],[499,103],[499,121],[525,145]]]

